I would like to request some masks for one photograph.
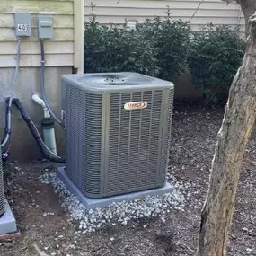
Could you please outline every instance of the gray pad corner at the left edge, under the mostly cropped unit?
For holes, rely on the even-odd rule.
[[[17,225],[13,216],[12,210],[7,202],[4,200],[4,216],[0,217],[0,235],[12,234],[17,232]]]

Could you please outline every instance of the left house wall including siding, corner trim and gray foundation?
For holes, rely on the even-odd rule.
[[[0,138],[4,134],[4,102],[11,93],[17,39],[13,13],[32,14],[32,36],[22,37],[20,73],[15,88],[18,97],[35,125],[41,130],[43,111],[31,100],[31,93],[40,92],[40,41],[37,15],[52,14],[54,38],[44,40],[46,54],[45,86],[49,102],[60,117],[61,75],[70,74],[74,68],[83,71],[84,0],[1,0],[0,1]],[[13,159],[28,160],[40,157],[40,151],[31,137],[20,113],[13,110],[11,152]],[[56,127],[57,150],[64,153],[64,133]]]

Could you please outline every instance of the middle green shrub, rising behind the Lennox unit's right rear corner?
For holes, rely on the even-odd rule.
[[[153,40],[157,51],[158,77],[173,81],[187,70],[187,57],[190,49],[190,23],[172,21],[168,9],[163,20],[147,21],[138,29],[148,40]]]

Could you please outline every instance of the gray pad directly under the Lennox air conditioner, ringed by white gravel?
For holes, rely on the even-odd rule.
[[[163,195],[166,193],[172,193],[173,187],[170,183],[166,183],[163,188],[153,189],[153,190],[143,190],[143,191],[137,191],[134,193],[119,195],[119,196],[113,196],[109,198],[104,199],[90,199],[88,197],[85,197],[84,194],[75,186],[73,181],[71,181],[65,172],[64,167],[58,167],[57,168],[57,176],[61,181],[63,181],[66,184],[67,189],[75,195],[75,197],[82,203],[87,209],[95,209],[97,207],[107,207],[113,202],[119,202],[119,201],[128,201],[128,200],[134,200],[134,199],[143,199],[147,196],[157,196],[157,195]]]

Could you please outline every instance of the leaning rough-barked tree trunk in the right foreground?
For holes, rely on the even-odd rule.
[[[224,256],[243,154],[256,114],[256,13],[250,18],[243,65],[230,88],[217,136],[207,200],[201,214],[198,256]]]

